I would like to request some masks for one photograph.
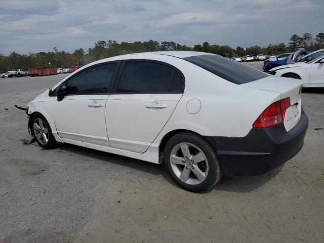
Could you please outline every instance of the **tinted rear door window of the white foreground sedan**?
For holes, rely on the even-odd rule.
[[[164,64],[125,62],[117,93],[183,93],[182,74]]]

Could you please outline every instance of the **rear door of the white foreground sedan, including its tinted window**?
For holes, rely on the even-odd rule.
[[[106,107],[113,148],[143,153],[166,125],[184,91],[183,74],[165,63],[125,61]]]

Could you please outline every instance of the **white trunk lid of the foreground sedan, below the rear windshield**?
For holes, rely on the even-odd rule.
[[[301,117],[302,108],[302,81],[300,79],[269,75],[268,77],[242,85],[253,89],[280,93],[280,99],[289,97],[291,106],[286,110],[284,126],[287,132],[296,126]]]

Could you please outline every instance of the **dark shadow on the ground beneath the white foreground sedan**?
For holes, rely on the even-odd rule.
[[[66,152],[76,153],[89,158],[94,158],[102,161],[103,163],[112,163],[134,170],[143,171],[145,173],[150,173],[155,176],[161,175],[167,182],[171,183],[174,186],[177,186],[169,177],[164,167],[161,165],[71,144],[61,145],[58,149]],[[213,190],[232,192],[255,191],[262,185],[266,184],[268,181],[272,180],[281,171],[281,168],[282,167],[260,176],[223,176],[222,179],[213,188]]]

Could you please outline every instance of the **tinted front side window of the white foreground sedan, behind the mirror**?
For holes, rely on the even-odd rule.
[[[67,94],[107,94],[117,65],[117,63],[103,64],[77,73],[67,81]]]

